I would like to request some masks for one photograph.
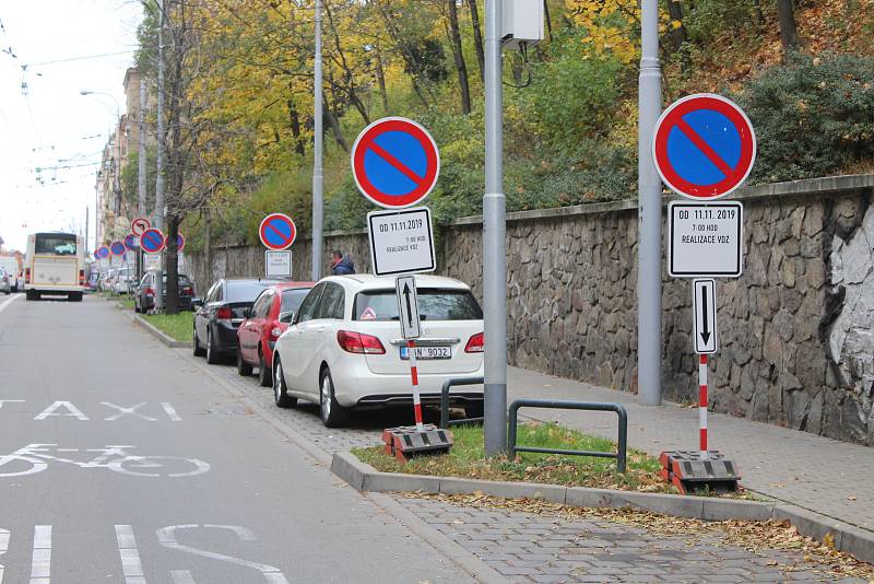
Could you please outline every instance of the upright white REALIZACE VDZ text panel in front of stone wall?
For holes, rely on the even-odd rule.
[[[742,203],[673,201],[668,227],[671,277],[736,278],[743,272]]]

